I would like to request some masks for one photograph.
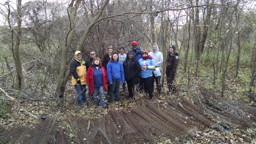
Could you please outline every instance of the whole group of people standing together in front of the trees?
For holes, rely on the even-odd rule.
[[[90,59],[86,62],[82,58],[80,51],[75,52],[75,59],[70,63],[70,73],[72,84],[75,86],[78,105],[86,102],[86,84],[89,88],[89,95],[93,97],[94,105],[99,105],[98,97],[103,108],[108,108],[106,95],[109,94],[109,102],[121,103],[119,86],[128,89],[129,98],[134,98],[134,90],[140,90],[149,94],[149,99],[153,99],[154,82],[156,81],[159,97],[161,93],[161,65],[163,54],[159,52],[156,43],[152,45],[152,51],[141,50],[138,42],[132,42],[132,48],[127,55],[124,53],[124,46],[119,47],[119,52],[113,52],[113,46],[108,46],[108,53],[103,56],[103,60],[96,57],[95,51],[90,51]],[[179,54],[175,51],[175,46],[170,45],[166,58],[166,77],[170,92],[177,90],[173,84],[175,72],[178,67]],[[126,87],[127,84],[127,87]]]

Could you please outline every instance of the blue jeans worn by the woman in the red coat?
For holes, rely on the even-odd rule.
[[[106,107],[106,96],[104,93],[103,86],[100,87],[94,87],[94,93],[93,93],[93,100],[94,100],[94,105],[98,106],[99,100],[98,100],[98,95],[100,95],[100,103],[102,107]]]

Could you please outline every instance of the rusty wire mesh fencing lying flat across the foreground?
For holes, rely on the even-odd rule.
[[[95,120],[70,115],[65,122],[41,119],[32,128],[0,127],[0,143],[156,143],[162,138],[184,142],[194,136],[194,130],[230,131],[235,125],[247,127],[255,122],[254,107],[228,101],[202,87],[194,103],[181,98],[144,104],[111,110]]]

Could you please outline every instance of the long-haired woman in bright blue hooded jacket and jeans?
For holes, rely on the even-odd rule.
[[[114,101],[114,92],[115,92],[115,101],[117,103],[121,103],[120,101],[120,93],[119,93],[119,86],[124,83],[124,68],[122,62],[119,61],[118,53],[113,52],[111,55],[110,61],[107,65],[107,75],[108,75],[108,82],[110,84],[110,91],[109,91],[109,102]]]

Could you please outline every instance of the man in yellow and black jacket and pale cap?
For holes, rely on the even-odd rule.
[[[72,84],[76,89],[78,106],[86,102],[86,66],[80,51],[75,52],[75,59],[70,63]]]

